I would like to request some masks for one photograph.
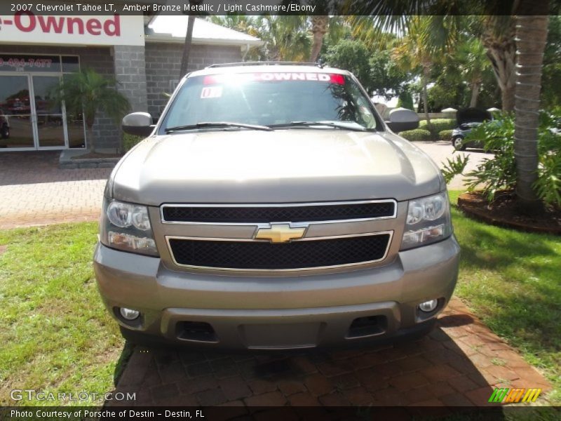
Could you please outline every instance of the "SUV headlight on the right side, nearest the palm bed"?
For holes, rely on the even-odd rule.
[[[447,192],[409,201],[401,250],[425,246],[452,235]]]

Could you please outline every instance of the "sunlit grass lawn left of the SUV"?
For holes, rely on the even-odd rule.
[[[15,404],[11,389],[114,389],[124,340],[95,286],[96,234],[96,223],[0,231],[0,405]]]

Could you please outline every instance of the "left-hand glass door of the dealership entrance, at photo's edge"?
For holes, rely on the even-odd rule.
[[[0,75],[0,147],[34,148],[29,76]]]

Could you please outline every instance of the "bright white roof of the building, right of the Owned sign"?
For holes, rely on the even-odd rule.
[[[156,15],[145,29],[146,41],[183,43],[187,34],[188,20],[187,15]],[[255,36],[196,18],[193,27],[193,44],[246,47],[261,46],[264,43]]]

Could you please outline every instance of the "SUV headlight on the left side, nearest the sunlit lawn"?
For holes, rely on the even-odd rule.
[[[107,247],[158,256],[146,206],[104,199],[100,241]]]

